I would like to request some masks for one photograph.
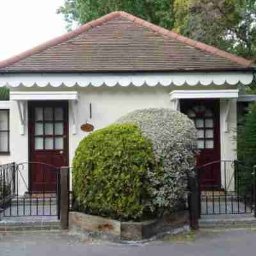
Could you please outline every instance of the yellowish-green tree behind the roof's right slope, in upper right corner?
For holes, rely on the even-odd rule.
[[[175,0],[175,29],[246,58],[256,54],[255,0]]]

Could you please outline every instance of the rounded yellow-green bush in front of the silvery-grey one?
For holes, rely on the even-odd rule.
[[[152,143],[133,124],[110,125],[84,138],[72,165],[79,210],[120,220],[145,214]]]

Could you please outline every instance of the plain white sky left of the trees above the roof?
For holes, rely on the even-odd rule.
[[[0,0],[0,61],[67,32],[65,0]]]

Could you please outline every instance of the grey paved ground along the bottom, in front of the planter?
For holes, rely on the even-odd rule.
[[[167,239],[168,240],[168,239]],[[198,232],[195,241],[154,241],[143,245],[118,245],[88,241],[63,232],[0,235],[1,256],[184,256],[255,255],[256,230]]]

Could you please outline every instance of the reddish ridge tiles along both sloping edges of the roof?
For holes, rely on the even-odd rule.
[[[148,28],[148,29],[154,31],[155,33],[158,33],[159,35],[168,36],[168,37],[173,38],[179,42],[183,42],[184,44],[187,44],[191,47],[200,49],[205,52],[210,52],[211,54],[215,54],[216,56],[221,56],[230,61],[239,63],[240,65],[245,66],[245,67],[250,67],[252,65],[252,63],[254,62],[254,61],[246,60],[245,58],[236,56],[234,54],[230,54],[228,52],[221,51],[220,49],[213,47],[211,45],[207,45],[202,42],[195,41],[191,38],[182,36],[179,33],[177,33],[176,31],[161,28],[160,26],[152,24],[146,20],[140,19],[134,15],[131,15],[130,13],[123,12],[123,11],[117,11],[117,12],[109,13],[108,15],[100,17],[99,19],[92,20],[91,22],[88,22],[73,31],[70,31],[68,33],[65,33],[64,35],[53,38],[52,40],[49,40],[49,41],[45,42],[44,44],[40,44],[36,47],[33,47],[32,49],[29,49],[28,51],[24,51],[24,52],[17,54],[11,58],[0,61],[0,68],[8,67],[14,63],[19,62],[20,60],[24,60],[24,59],[28,58],[29,56],[32,56],[33,54],[45,51],[46,49],[49,49],[50,47],[54,47],[58,44],[66,42],[67,40],[75,38],[76,36],[80,35],[81,33],[88,31],[89,29],[95,28],[97,26],[100,26],[100,25],[104,24],[104,22],[115,19],[116,17],[124,17],[125,19],[128,19],[131,22],[133,22],[134,24]]]

